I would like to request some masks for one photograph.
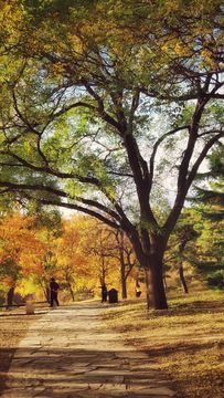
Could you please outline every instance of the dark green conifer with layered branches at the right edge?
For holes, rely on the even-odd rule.
[[[209,286],[224,287],[224,149],[218,143],[215,150],[207,156],[207,171],[200,176],[200,181],[207,181],[209,188],[194,186],[196,195],[191,198],[198,203],[198,228],[201,238],[200,260],[194,266],[203,275]]]

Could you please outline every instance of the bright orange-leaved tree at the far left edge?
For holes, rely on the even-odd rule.
[[[19,212],[0,222],[0,281],[9,286],[6,305],[11,306],[19,281],[32,273],[41,274],[45,245],[35,237],[34,219]]]

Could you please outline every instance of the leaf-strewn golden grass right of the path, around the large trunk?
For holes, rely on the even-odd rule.
[[[108,310],[105,320],[125,344],[148,353],[177,397],[224,397],[224,296],[212,291],[168,295],[168,311],[146,302]]]

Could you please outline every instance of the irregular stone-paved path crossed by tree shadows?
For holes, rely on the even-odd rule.
[[[100,303],[62,306],[36,321],[14,355],[2,398],[173,396],[149,356],[104,325],[105,311]]]

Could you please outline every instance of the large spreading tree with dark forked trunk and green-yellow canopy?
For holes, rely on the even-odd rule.
[[[2,15],[1,195],[124,230],[148,305],[167,308],[167,241],[224,135],[222,2],[11,0]],[[152,192],[167,180],[161,222]]]

